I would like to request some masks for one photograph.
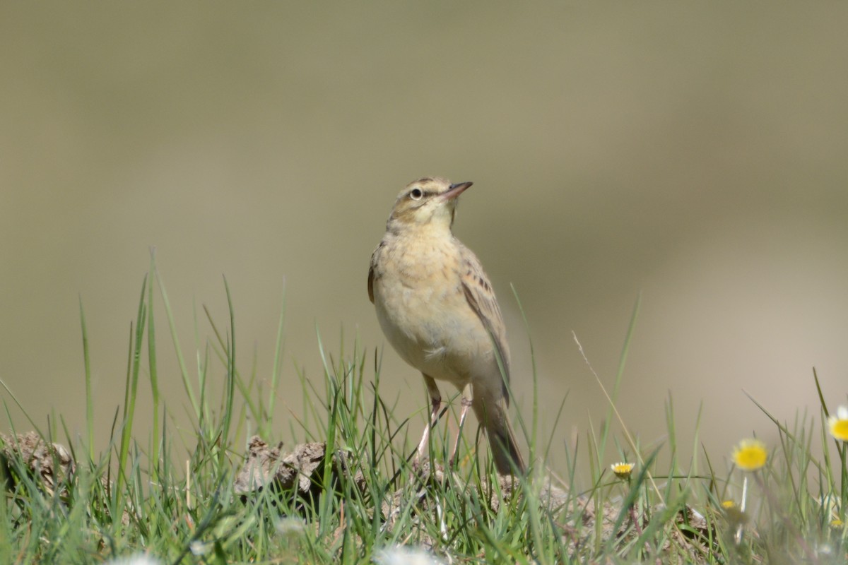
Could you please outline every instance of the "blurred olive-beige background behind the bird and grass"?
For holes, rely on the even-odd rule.
[[[848,394],[846,28],[842,3],[4,2],[0,377],[82,433],[81,299],[105,449],[155,246],[189,353],[203,305],[226,322],[226,275],[244,373],[271,374],[285,289],[280,402],[299,403],[316,328],[328,352],[342,332],[386,346],[368,259],[400,187],[438,174],[475,183],[455,233],[499,293],[529,417],[521,298],[555,467],[607,406],[572,332],[611,387],[639,295],[633,433],[664,441],[671,398],[684,450],[701,409],[713,457],[773,438],[744,391],[790,422],[817,416],[813,367],[828,402]],[[425,407],[390,349],[382,394]]]

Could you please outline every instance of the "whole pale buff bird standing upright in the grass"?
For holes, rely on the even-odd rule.
[[[460,427],[473,407],[499,473],[523,472],[506,412],[510,351],[504,320],[480,261],[451,232],[457,197],[469,186],[425,178],[400,191],[386,235],[371,255],[368,296],[389,343],[427,384],[432,412],[419,455],[442,402],[436,380],[447,380],[462,391]]]

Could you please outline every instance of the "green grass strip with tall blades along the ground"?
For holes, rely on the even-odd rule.
[[[695,449],[696,457],[679,461],[671,398],[663,445],[643,448],[624,422],[619,422],[622,437],[611,435],[638,304],[602,431],[589,430],[579,442],[586,446],[581,451],[569,451],[561,438],[538,435],[534,395],[531,413],[516,429],[527,438],[535,464],[529,479],[513,483],[496,479],[485,448],[476,448],[484,441],[471,433],[460,447],[463,457],[454,474],[416,472],[410,456],[424,420],[410,420],[410,414],[394,409],[381,391],[381,352],[357,342],[335,356],[320,345],[323,378],[307,379],[301,372],[298,386],[287,388],[290,405],[298,402],[290,391],[298,391],[303,417],[274,421],[275,402],[282,397],[283,314],[271,375],[260,378],[255,369],[243,374],[226,281],[225,291],[226,324],[204,310],[209,338],[199,339],[201,324],[195,319],[197,341],[205,345],[186,353],[151,261],[128,336],[125,399],[107,446],[94,445],[81,304],[86,434],[70,435],[61,418],[37,429],[27,415],[36,437],[69,451],[63,460],[62,452],[48,450],[36,472],[20,455],[25,447],[15,435],[29,430],[9,430],[0,465],[6,493],[0,504],[0,562],[92,563],[146,553],[162,563],[366,563],[393,546],[423,546],[454,563],[838,563],[848,558],[845,444],[834,448],[828,435],[826,391],[818,389],[820,414],[791,424],[757,405],[780,440],[769,446],[765,466],[747,473],[727,468],[728,453]],[[154,324],[154,299],[161,301],[185,391],[185,398],[170,401],[170,407],[157,380],[155,343],[161,329]],[[198,359],[191,370],[188,358]],[[221,373],[223,386],[212,385],[209,375]],[[271,385],[263,390],[260,382]],[[813,382],[818,387],[817,377]],[[12,391],[6,393],[17,403]],[[147,440],[133,435],[142,394],[153,400]],[[169,412],[180,403],[193,426],[187,464]],[[5,405],[8,414],[13,409],[27,414],[25,407]],[[254,430],[271,445],[283,430],[298,440],[326,442],[326,461],[309,490],[269,486],[248,496],[233,490],[246,435]],[[437,462],[449,457],[446,430],[443,424],[432,434]],[[697,446],[697,434],[694,441]],[[545,468],[551,449],[566,450],[561,473],[566,479],[554,479]],[[658,468],[660,458],[670,463]],[[45,465],[60,469],[70,460],[73,469],[45,472]],[[611,473],[611,463],[618,461],[635,463],[629,478]],[[570,479],[583,465],[591,469],[588,487]],[[724,501],[735,506],[724,508]]]

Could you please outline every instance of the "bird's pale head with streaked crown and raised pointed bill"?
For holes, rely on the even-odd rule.
[[[444,227],[454,223],[457,197],[471,186],[470,182],[451,184],[447,179],[425,177],[410,182],[394,202],[388,228],[412,226]]]

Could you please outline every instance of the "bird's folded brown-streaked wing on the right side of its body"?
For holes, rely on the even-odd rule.
[[[494,296],[492,284],[483,271],[483,265],[477,256],[466,246],[460,244],[460,279],[462,280],[462,291],[465,292],[466,301],[477,318],[483,322],[489,335],[492,336],[495,349],[498,352],[500,363],[504,368],[504,397],[509,402],[509,390],[506,383],[510,379],[510,350],[506,345],[506,327],[504,319],[500,315],[498,300]]]

